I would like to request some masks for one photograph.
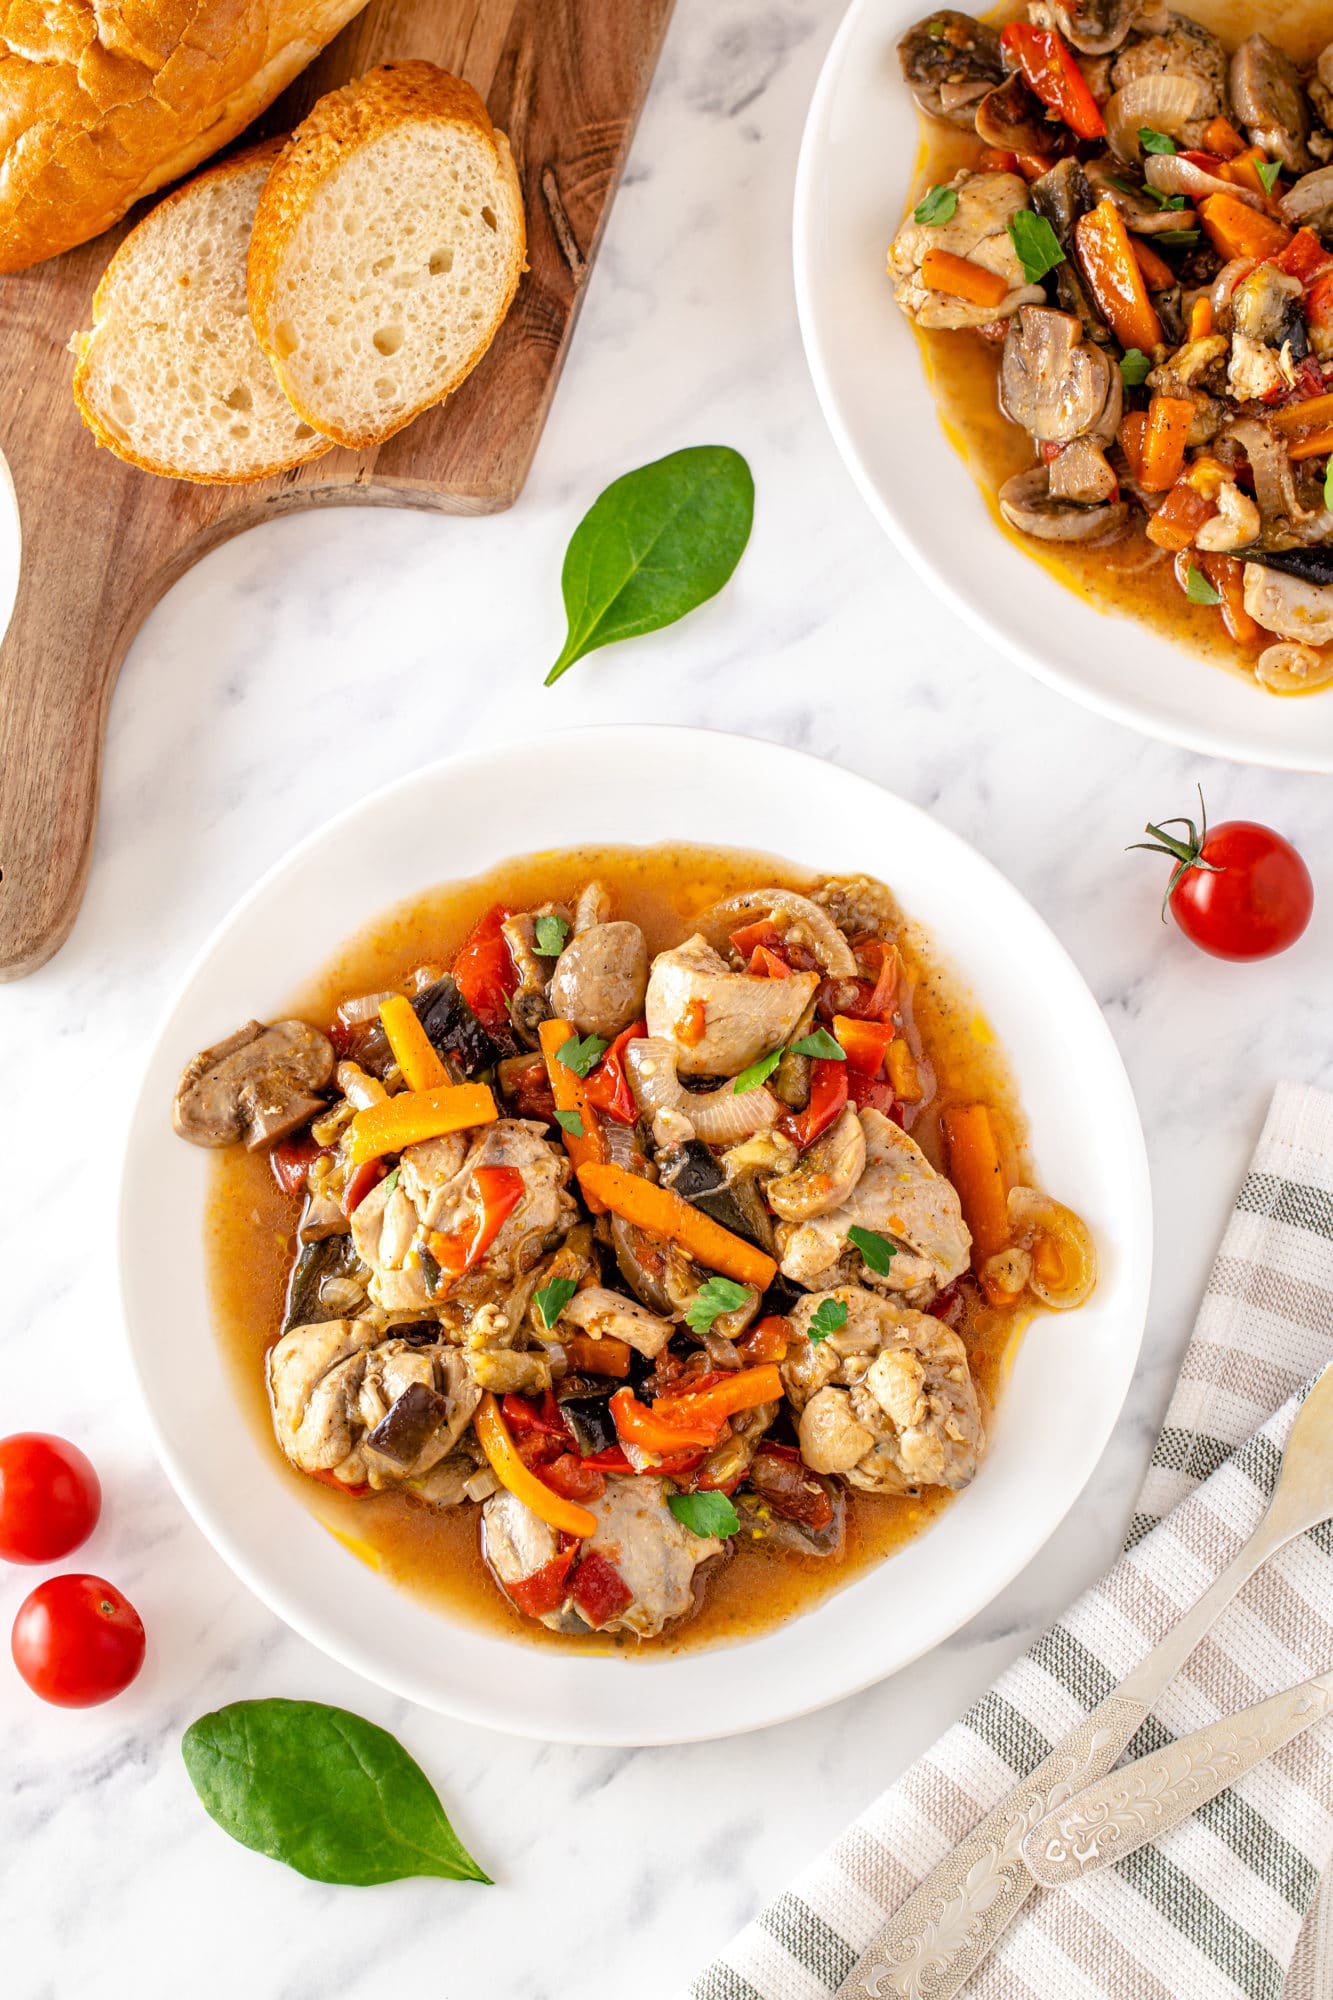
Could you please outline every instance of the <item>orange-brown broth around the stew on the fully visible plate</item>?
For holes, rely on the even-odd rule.
[[[614,914],[642,926],[650,954],[689,936],[695,918],[723,896],[773,882],[809,890],[819,880],[769,856],[721,848],[586,848],[524,856],[388,910],[292,996],[288,1012],[328,1024],[338,1000],[396,986],[418,964],[448,964],[490,904],[532,908],[548,898],[570,904],[592,876],[608,886]],[[927,1082],[927,1102],[909,1114],[913,1136],[939,1166],[941,1112],[983,1098],[1009,1134],[1011,1178],[1031,1180],[1017,1096],[985,1018],[911,924],[899,946],[911,990],[907,1034],[925,1060]],[[282,1194],[264,1154],[228,1148],[216,1156],[204,1230],[214,1326],[240,1406],[292,1494],[354,1556],[452,1618],[544,1646],[636,1652],[642,1642],[634,1638],[566,1638],[522,1618],[486,1572],[478,1508],[436,1514],[402,1494],[352,1498],[288,1466],[272,1434],[266,1354],[282,1326],[298,1216],[300,1200]],[[975,1300],[959,1326],[983,1410],[995,1404],[1025,1318],[1025,1312]],[[919,1498],[849,1492],[847,1542],[837,1558],[787,1556],[737,1536],[727,1560],[705,1572],[699,1614],[648,1648],[699,1648],[781,1624],[921,1534],[949,1498],[947,1492]]]

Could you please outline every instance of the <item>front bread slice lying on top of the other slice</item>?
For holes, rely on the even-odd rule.
[[[250,240],[250,318],[292,406],[370,446],[482,358],[524,270],[522,192],[486,106],[432,62],[370,70],[278,156]]]

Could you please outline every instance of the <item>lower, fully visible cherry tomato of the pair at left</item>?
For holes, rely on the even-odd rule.
[[[56,1708],[92,1708],[144,1664],[144,1622],[100,1576],[48,1576],[18,1606],[14,1666]]]

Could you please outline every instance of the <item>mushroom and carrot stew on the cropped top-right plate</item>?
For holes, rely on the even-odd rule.
[[[899,44],[889,250],[1009,532],[1275,694],[1333,682],[1333,42],[1151,0],[951,8]],[[1327,46],[1323,46],[1327,42]]]

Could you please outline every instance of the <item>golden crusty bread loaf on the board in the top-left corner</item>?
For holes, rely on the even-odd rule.
[[[0,272],[236,138],[366,0],[0,0]]]

